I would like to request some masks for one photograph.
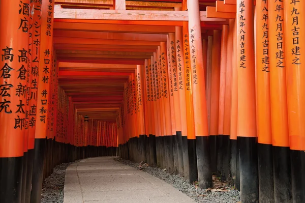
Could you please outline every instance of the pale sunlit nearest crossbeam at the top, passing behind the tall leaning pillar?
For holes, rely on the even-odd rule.
[[[134,11],[134,10],[96,10],[96,9],[63,9],[54,7],[54,18],[96,19],[96,20],[149,20],[149,21],[188,21],[188,11]],[[200,11],[200,20],[210,21],[205,11]],[[218,21],[221,19],[213,19]]]

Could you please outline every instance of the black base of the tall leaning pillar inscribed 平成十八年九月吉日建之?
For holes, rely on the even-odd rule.
[[[200,188],[211,188],[213,186],[208,138],[209,136],[196,136],[198,182]]]

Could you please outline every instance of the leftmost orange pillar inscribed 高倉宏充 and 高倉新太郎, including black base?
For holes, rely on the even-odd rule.
[[[26,125],[29,1],[0,5],[1,202],[21,201]],[[10,16],[10,17],[9,17]],[[23,192],[24,196],[24,192]]]

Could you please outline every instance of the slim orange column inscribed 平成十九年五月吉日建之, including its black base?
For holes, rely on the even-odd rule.
[[[188,129],[187,129],[187,108],[186,108],[186,79],[184,63],[184,38],[182,36],[182,27],[175,27],[175,51],[177,66],[177,89],[179,95],[179,112],[181,132],[177,132],[177,147],[180,176],[189,179],[189,154],[188,154]]]

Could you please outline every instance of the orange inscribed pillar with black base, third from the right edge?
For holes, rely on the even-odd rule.
[[[275,201],[271,135],[268,1],[256,3],[256,91],[259,198]],[[266,60],[267,59],[267,60]]]

